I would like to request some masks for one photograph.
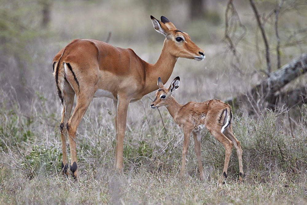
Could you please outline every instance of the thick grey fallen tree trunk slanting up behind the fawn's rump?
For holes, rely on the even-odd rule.
[[[234,107],[245,106],[250,114],[261,113],[265,107],[273,107],[278,102],[289,102],[289,96],[291,96],[291,102],[289,106],[295,104],[306,103],[303,99],[306,99],[305,87],[297,90],[290,91],[288,93],[281,93],[275,95],[282,87],[284,87],[291,80],[296,79],[298,76],[307,72],[307,52],[291,60],[288,64],[284,65],[281,69],[271,73],[270,77],[264,79],[261,83],[256,85],[246,94],[241,94],[236,98],[227,100],[227,103]],[[301,94],[298,94],[301,93]],[[291,94],[291,95],[289,95]],[[294,97],[293,95],[297,95]],[[301,97],[303,95],[305,97]],[[278,99],[279,96],[279,99]],[[287,97],[288,96],[288,97]],[[294,100],[296,99],[296,100]]]

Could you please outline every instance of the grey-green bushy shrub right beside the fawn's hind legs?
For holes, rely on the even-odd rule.
[[[239,117],[234,123],[234,131],[242,139],[239,141],[243,149],[243,166],[257,170],[257,175],[262,177],[269,173],[296,175],[306,169],[306,126],[299,125],[301,132],[290,136],[278,124],[278,115],[267,110],[259,122],[250,117]]]

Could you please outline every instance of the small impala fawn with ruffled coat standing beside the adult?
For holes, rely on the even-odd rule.
[[[165,88],[161,78],[158,78],[158,87],[160,88],[151,103],[151,108],[165,106],[174,121],[183,129],[184,141],[182,149],[181,177],[184,176],[186,156],[190,144],[191,132],[194,136],[195,153],[198,160],[200,179],[204,179],[203,167],[200,157],[200,131],[207,128],[226,150],[223,175],[219,183],[225,183],[227,178],[227,169],[230,159],[232,146],[235,146],[239,158],[239,180],[242,181],[245,174],[242,169],[242,149],[240,142],[232,134],[231,129],[231,106],[220,100],[207,100],[203,103],[189,102],[185,105],[177,103],[172,96],[173,92],[179,87],[180,78],[176,77],[169,88]]]

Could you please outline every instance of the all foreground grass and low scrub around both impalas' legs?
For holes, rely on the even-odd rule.
[[[40,103],[44,102],[38,100]],[[183,133],[164,110],[167,133],[153,110],[144,109],[134,123],[130,122],[124,143],[125,169],[120,175],[113,169],[115,139],[110,110],[93,114],[96,103],[94,100],[91,104],[77,135],[79,183],[60,173],[59,131],[53,124],[46,126],[46,122],[54,122],[53,115],[41,121],[37,112],[29,120],[18,107],[1,110],[5,118],[1,118],[0,132],[0,204],[307,203],[307,127],[303,121],[297,122],[293,138],[278,124],[277,116],[283,112],[267,111],[261,120],[235,115],[233,130],[242,143],[247,178],[244,183],[238,181],[238,160],[233,150],[227,183],[218,186],[224,150],[206,131],[202,132],[206,180],[199,180],[192,142],[188,174],[180,180]],[[302,109],[303,118],[307,117],[306,108]]]

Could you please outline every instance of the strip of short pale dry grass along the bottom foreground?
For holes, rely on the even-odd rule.
[[[28,180],[16,170],[2,169],[0,203],[306,203],[305,177],[294,181],[285,175],[270,176],[274,179],[266,183],[228,180],[227,184],[217,186],[214,178],[218,176],[214,173],[213,179],[201,182],[191,176],[181,181],[176,176],[153,174],[144,168],[124,176],[98,168],[74,184],[60,175]]]

